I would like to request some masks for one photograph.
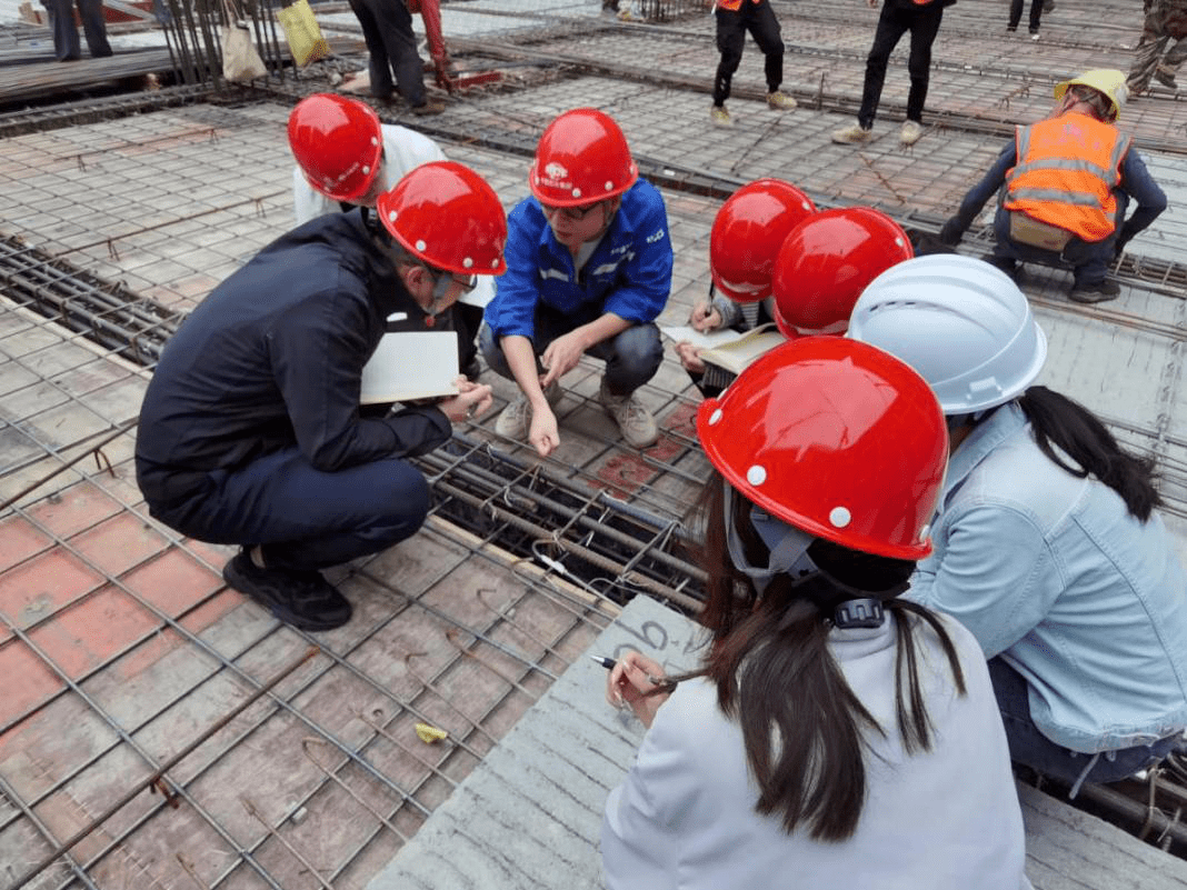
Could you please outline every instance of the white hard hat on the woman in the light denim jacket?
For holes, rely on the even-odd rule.
[[[849,335],[897,356],[931,383],[945,414],[1021,395],[1047,358],[1026,294],[988,262],[957,254],[906,260],[862,292]]]

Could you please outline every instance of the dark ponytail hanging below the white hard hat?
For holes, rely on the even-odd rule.
[[[1030,387],[1018,399],[1018,406],[1042,453],[1081,479],[1096,476],[1121,495],[1135,519],[1145,522],[1162,503],[1154,487],[1154,459],[1123,450],[1100,419],[1083,405],[1047,387]],[[1053,445],[1074,464],[1067,463]]]

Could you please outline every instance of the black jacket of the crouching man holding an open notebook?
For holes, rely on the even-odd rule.
[[[311,220],[216,287],[165,347],[140,409],[137,475],[153,503],[173,473],[231,470],[296,445],[319,470],[431,451],[438,408],[358,413],[360,375],[394,312],[424,311],[358,211]]]

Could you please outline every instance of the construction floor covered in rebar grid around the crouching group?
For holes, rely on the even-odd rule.
[[[904,39],[875,139],[853,148],[830,133],[856,113],[876,11],[857,0],[774,8],[783,85],[800,107],[767,108],[762,55],[748,44],[728,129],[709,120],[711,17],[628,24],[588,0],[446,4],[458,68],[497,70],[501,82],[440,95],[438,117],[379,110],[481,172],[508,209],[528,193],[528,160],[553,116],[577,106],[614,115],[667,203],[675,273],[660,320],[678,325],[707,292],[709,230],[732,189],[781,177],[821,208],[875,205],[935,231],[1014,125],[1048,113],[1056,81],[1128,69],[1141,28],[1140,8],[1119,0],[1058,0],[1032,42],[1005,33],[1001,2],[960,0],[935,44],[923,139],[897,142]],[[342,11],[322,24],[353,33]],[[229,548],[147,515],[132,452],[153,356],[210,288],[292,225],[288,112],[351,64],[366,57],[254,88],[174,87],[0,115],[0,886],[366,888],[550,694],[617,603],[640,591],[679,602],[679,589],[665,589],[674,584],[640,579],[649,546],[603,557],[594,579],[566,561],[620,509],[672,523],[654,545],[667,547],[697,502],[709,470],[692,427],[699,396],[671,350],[641,393],[661,427],[641,452],[597,406],[596,362],[565,377],[561,446],[546,460],[494,433],[514,387],[488,371],[495,411],[459,441],[523,468],[475,508],[501,519],[489,534],[450,519],[455,468],[433,458],[438,511],[414,538],[332,573],[356,615],[329,634],[279,624],[224,585]],[[1115,269],[1121,298],[1069,303],[1068,273],[1041,267],[1028,267],[1023,290],[1049,339],[1040,382],[1154,456],[1187,555],[1187,103],[1143,95],[1123,125],[1170,209]],[[988,250],[991,210],[963,253]],[[46,311],[50,293],[76,293],[70,306],[88,309]],[[572,527],[514,525],[532,519],[523,491],[538,479],[586,497]],[[527,555],[501,536],[513,526]],[[418,723],[447,739],[420,740]],[[629,745],[615,751],[624,770]],[[537,802],[563,824],[559,799]],[[458,818],[468,813],[481,818]],[[551,885],[534,872],[516,881],[504,885]]]

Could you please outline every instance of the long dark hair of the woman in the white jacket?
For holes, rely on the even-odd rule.
[[[857,829],[865,803],[863,732],[884,736],[845,681],[827,647],[830,615],[817,603],[842,584],[877,591],[904,581],[914,562],[886,559],[818,540],[808,553],[827,576],[795,585],[775,577],[758,595],[734,567],[725,541],[735,522],[747,559],[766,565],[767,548],[749,522],[750,504],[735,494],[725,515],[724,481],[709,484],[704,557],[709,600],[700,615],[712,634],[703,674],[717,686],[722,711],[742,727],[747,762],[758,784],[755,809],[777,818],[791,834],[805,827],[820,841],[842,841]],[[807,590],[818,585],[815,590]],[[831,590],[830,590],[831,587]],[[845,598],[845,597],[842,597]],[[956,647],[939,619],[900,599],[886,603],[899,631],[895,666],[897,730],[907,754],[931,750],[933,730],[923,704],[914,634],[925,623],[947,655],[954,685],[965,693]]]

